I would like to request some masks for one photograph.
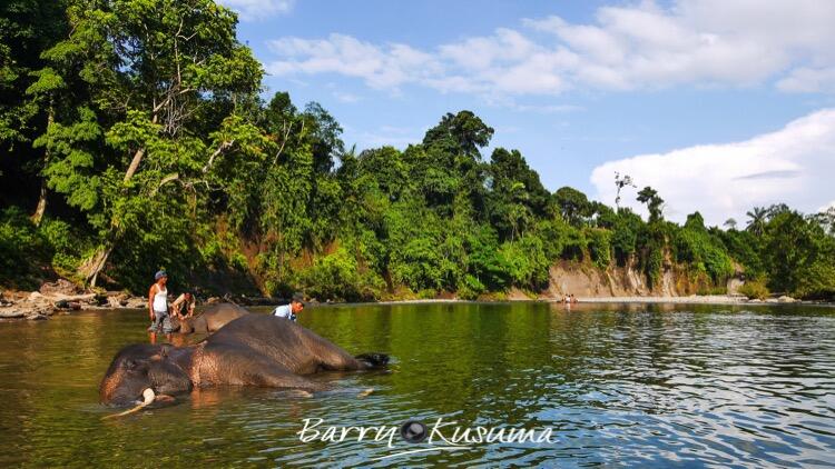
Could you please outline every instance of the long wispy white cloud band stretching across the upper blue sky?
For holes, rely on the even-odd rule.
[[[250,0],[255,1],[255,0]],[[344,34],[272,42],[279,76],[338,73],[487,97],[678,84],[835,91],[835,2],[678,0],[602,7],[590,23],[553,16],[420,50]]]

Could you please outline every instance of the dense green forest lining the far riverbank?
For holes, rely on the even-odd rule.
[[[834,210],[678,226],[644,188],[645,221],[548,191],[517,150],[484,158],[493,129],[470,111],[404,151],[357,153],[320,104],[264,100],[236,23],[210,0],[2,3],[1,285],[60,275],[140,292],[166,268],[207,291],[477,298],[536,292],[573,260],[650,286],[675,266],[704,292],[741,273],[750,296],[835,293]]]

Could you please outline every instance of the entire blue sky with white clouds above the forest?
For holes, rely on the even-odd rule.
[[[471,110],[549,190],[615,173],[682,221],[835,206],[835,1],[219,0],[267,73],[357,150]]]

